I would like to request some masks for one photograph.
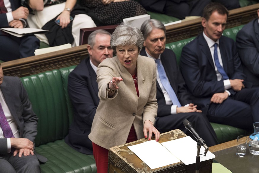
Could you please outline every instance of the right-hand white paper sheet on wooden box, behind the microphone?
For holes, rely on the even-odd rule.
[[[184,138],[162,142],[164,147],[167,148],[175,157],[180,159],[185,165],[189,165],[196,162],[197,156],[197,142],[190,136]],[[200,154],[204,155],[204,147],[201,146]],[[211,152],[207,152],[206,156],[200,155],[200,161],[206,161],[215,158],[215,155]]]

